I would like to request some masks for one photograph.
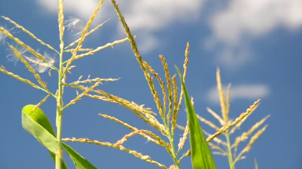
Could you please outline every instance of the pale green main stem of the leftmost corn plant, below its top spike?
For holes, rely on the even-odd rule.
[[[63,149],[62,149],[62,115],[63,115],[63,87],[64,84],[62,82],[64,74],[64,65],[63,65],[63,47],[61,48],[60,53],[60,71],[59,71],[59,82],[58,82],[58,96],[57,96],[57,140],[60,143],[59,152],[56,153],[56,169],[62,168],[62,159],[63,159]]]

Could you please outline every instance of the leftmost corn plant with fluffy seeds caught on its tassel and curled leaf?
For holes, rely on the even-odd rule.
[[[21,30],[23,33],[29,35],[31,38],[39,42],[43,47],[47,47],[49,51],[53,54],[49,54],[49,52],[45,52],[41,54],[39,50],[33,49],[26,42],[21,41],[11,33],[11,30],[8,30],[4,27],[0,27],[0,41],[7,42],[10,53],[7,55],[8,61],[14,62],[14,64],[18,61],[22,62],[27,70],[33,75],[36,82],[32,80],[22,78],[12,72],[9,72],[5,69],[4,66],[1,65],[0,72],[19,80],[25,84],[28,84],[36,89],[42,90],[45,93],[45,97],[34,105],[26,105],[22,109],[22,127],[27,130],[30,134],[32,134],[43,146],[45,146],[52,159],[55,162],[56,169],[67,169],[67,165],[63,160],[63,151],[66,151],[69,157],[74,162],[76,169],[96,169],[92,164],[90,164],[87,160],[85,160],[82,156],[80,156],[75,150],[69,147],[67,144],[62,143],[62,118],[63,112],[69,106],[75,104],[79,101],[86,93],[92,91],[95,87],[102,84],[102,82],[114,82],[118,79],[101,79],[95,78],[90,79],[90,76],[86,80],[81,80],[82,76],[76,82],[68,82],[67,73],[71,74],[72,69],[76,66],[72,65],[73,62],[77,59],[81,59],[83,57],[93,55],[94,53],[102,50],[106,47],[113,46],[120,42],[127,41],[128,38],[123,40],[114,41],[111,43],[107,43],[106,45],[99,46],[97,48],[83,48],[82,43],[85,41],[85,38],[89,36],[91,33],[95,32],[99,29],[102,24],[99,24],[93,29],[90,29],[90,25],[94,20],[97,12],[101,8],[103,0],[100,0],[95,10],[93,11],[91,17],[89,18],[86,25],[83,25],[81,31],[78,35],[80,37],[66,45],[64,42],[64,32],[65,28],[75,28],[79,24],[79,22],[75,19],[72,20],[64,20],[64,6],[63,0],[58,1],[58,23],[59,23],[59,39],[60,45],[59,49],[51,46],[47,42],[36,37],[29,30],[14,22],[8,17],[1,16],[2,19],[14,25],[15,29]],[[66,26],[65,26],[66,25]],[[3,43],[4,44],[4,43]],[[58,66],[55,66],[55,61],[57,58],[54,55],[59,55],[58,58]],[[68,56],[70,56],[68,58]],[[64,58],[68,58],[64,60]],[[49,70],[48,74],[51,76],[51,71],[55,71],[58,75],[58,88],[55,91],[51,91],[47,83],[42,81],[41,74]],[[85,84],[82,85],[82,84]],[[63,103],[64,97],[64,89],[66,87],[75,87],[81,88],[81,93],[76,93],[74,99],[72,99],[67,104]],[[49,97],[53,97],[56,100],[56,128],[57,132],[55,132],[54,127],[52,127],[45,113],[39,108]]]

